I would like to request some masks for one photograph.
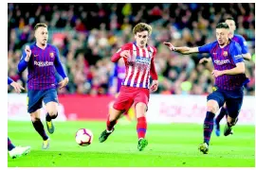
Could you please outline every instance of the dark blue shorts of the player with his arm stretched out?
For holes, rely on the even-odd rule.
[[[215,100],[221,108],[226,102],[227,110],[231,118],[237,118],[244,99],[243,89],[235,91],[224,91],[218,89],[216,86],[213,88],[213,92],[207,97],[207,100]]]

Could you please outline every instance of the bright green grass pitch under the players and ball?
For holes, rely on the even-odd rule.
[[[46,127],[46,126],[45,126]],[[55,123],[48,150],[42,150],[42,139],[30,122],[10,122],[9,138],[13,144],[30,145],[31,152],[18,159],[8,159],[9,167],[254,167],[253,126],[236,126],[234,135],[216,137],[212,133],[210,152],[200,153],[202,125],[148,125],[149,145],[137,151],[136,124],[118,125],[109,139],[98,141],[104,122]],[[94,133],[89,146],[75,142],[77,129],[85,127]]]

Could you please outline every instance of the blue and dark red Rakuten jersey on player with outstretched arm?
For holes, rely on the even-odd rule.
[[[241,47],[237,42],[229,40],[229,44],[221,48],[217,41],[210,42],[198,48],[199,53],[210,53],[215,70],[230,70],[236,63],[244,62]],[[222,90],[240,89],[247,81],[245,74],[222,75],[215,77],[215,85]]]

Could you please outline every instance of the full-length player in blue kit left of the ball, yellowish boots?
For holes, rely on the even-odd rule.
[[[18,65],[18,71],[28,69],[27,76],[27,111],[35,130],[43,138],[43,149],[49,147],[49,138],[40,120],[42,101],[46,104],[46,127],[49,133],[54,132],[52,119],[58,115],[58,96],[55,79],[55,69],[64,78],[60,88],[68,83],[68,77],[60,61],[59,50],[47,43],[48,31],[46,24],[40,23],[34,27],[36,42],[27,45]]]

